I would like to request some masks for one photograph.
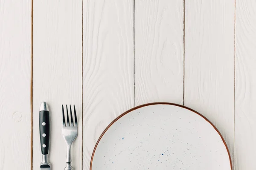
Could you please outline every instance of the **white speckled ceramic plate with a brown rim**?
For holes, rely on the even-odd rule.
[[[232,170],[227,145],[200,113],[151,103],[116,118],[93,151],[90,170]]]

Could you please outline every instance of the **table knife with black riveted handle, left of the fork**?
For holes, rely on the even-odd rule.
[[[50,170],[50,163],[48,162],[49,140],[50,140],[50,116],[49,107],[46,102],[42,102],[39,111],[39,130],[42,162],[40,164],[41,170]]]

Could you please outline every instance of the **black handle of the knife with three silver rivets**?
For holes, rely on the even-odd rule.
[[[49,151],[49,139],[50,139],[49,111],[39,112],[39,129],[40,129],[41,152],[43,155],[46,155],[48,154],[48,151]]]

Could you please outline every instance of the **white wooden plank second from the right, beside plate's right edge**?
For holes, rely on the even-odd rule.
[[[185,105],[234,147],[234,0],[185,1]]]

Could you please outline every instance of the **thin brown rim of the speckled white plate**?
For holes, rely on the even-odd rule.
[[[203,116],[201,113],[191,109],[191,108],[188,108],[186,106],[183,106],[183,105],[179,105],[179,104],[175,104],[175,103],[169,103],[169,102],[153,102],[153,103],[147,103],[147,104],[143,104],[143,105],[139,105],[139,106],[136,106],[134,108],[131,108],[129,109],[128,111],[125,111],[124,113],[122,113],[121,115],[119,115],[118,117],[116,117],[116,119],[114,119],[106,128],[105,130],[102,132],[102,134],[100,135],[98,141],[96,142],[95,144],[95,147],[93,149],[93,153],[92,153],[92,157],[91,157],[91,160],[90,160],[90,170],[92,170],[92,164],[93,164],[93,157],[94,157],[94,154],[95,154],[95,151],[97,149],[97,146],[100,142],[100,140],[102,139],[102,136],[106,133],[106,131],[118,120],[120,119],[122,116],[125,116],[127,113],[130,113],[131,111],[134,111],[134,110],[137,110],[139,108],[143,108],[145,106],[150,106],[150,105],[174,105],[174,106],[178,106],[180,108],[185,108],[185,109],[188,109],[189,111],[192,111],[196,114],[198,114],[199,116],[201,116],[202,118],[204,118],[207,122],[209,122],[210,125],[212,125],[212,127],[218,132],[219,136],[221,136],[221,139],[222,139],[222,142],[224,143],[226,149],[227,149],[227,153],[228,153],[228,156],[229,156],[229,159],[230,159],[230,168],[231,170],[233,170],[233,166],[232,166],[232,160],[231,160],[231,156],[230,156],[230,151],[227,147],[227,143],[225,142],[223,136],[221,135],[221,133],[219,132],[219,130],[217,129],[217,127],[215,127],[215,125],[212,124],[211,121],[209,121],[209,119],[207,119],[205,116]]]

